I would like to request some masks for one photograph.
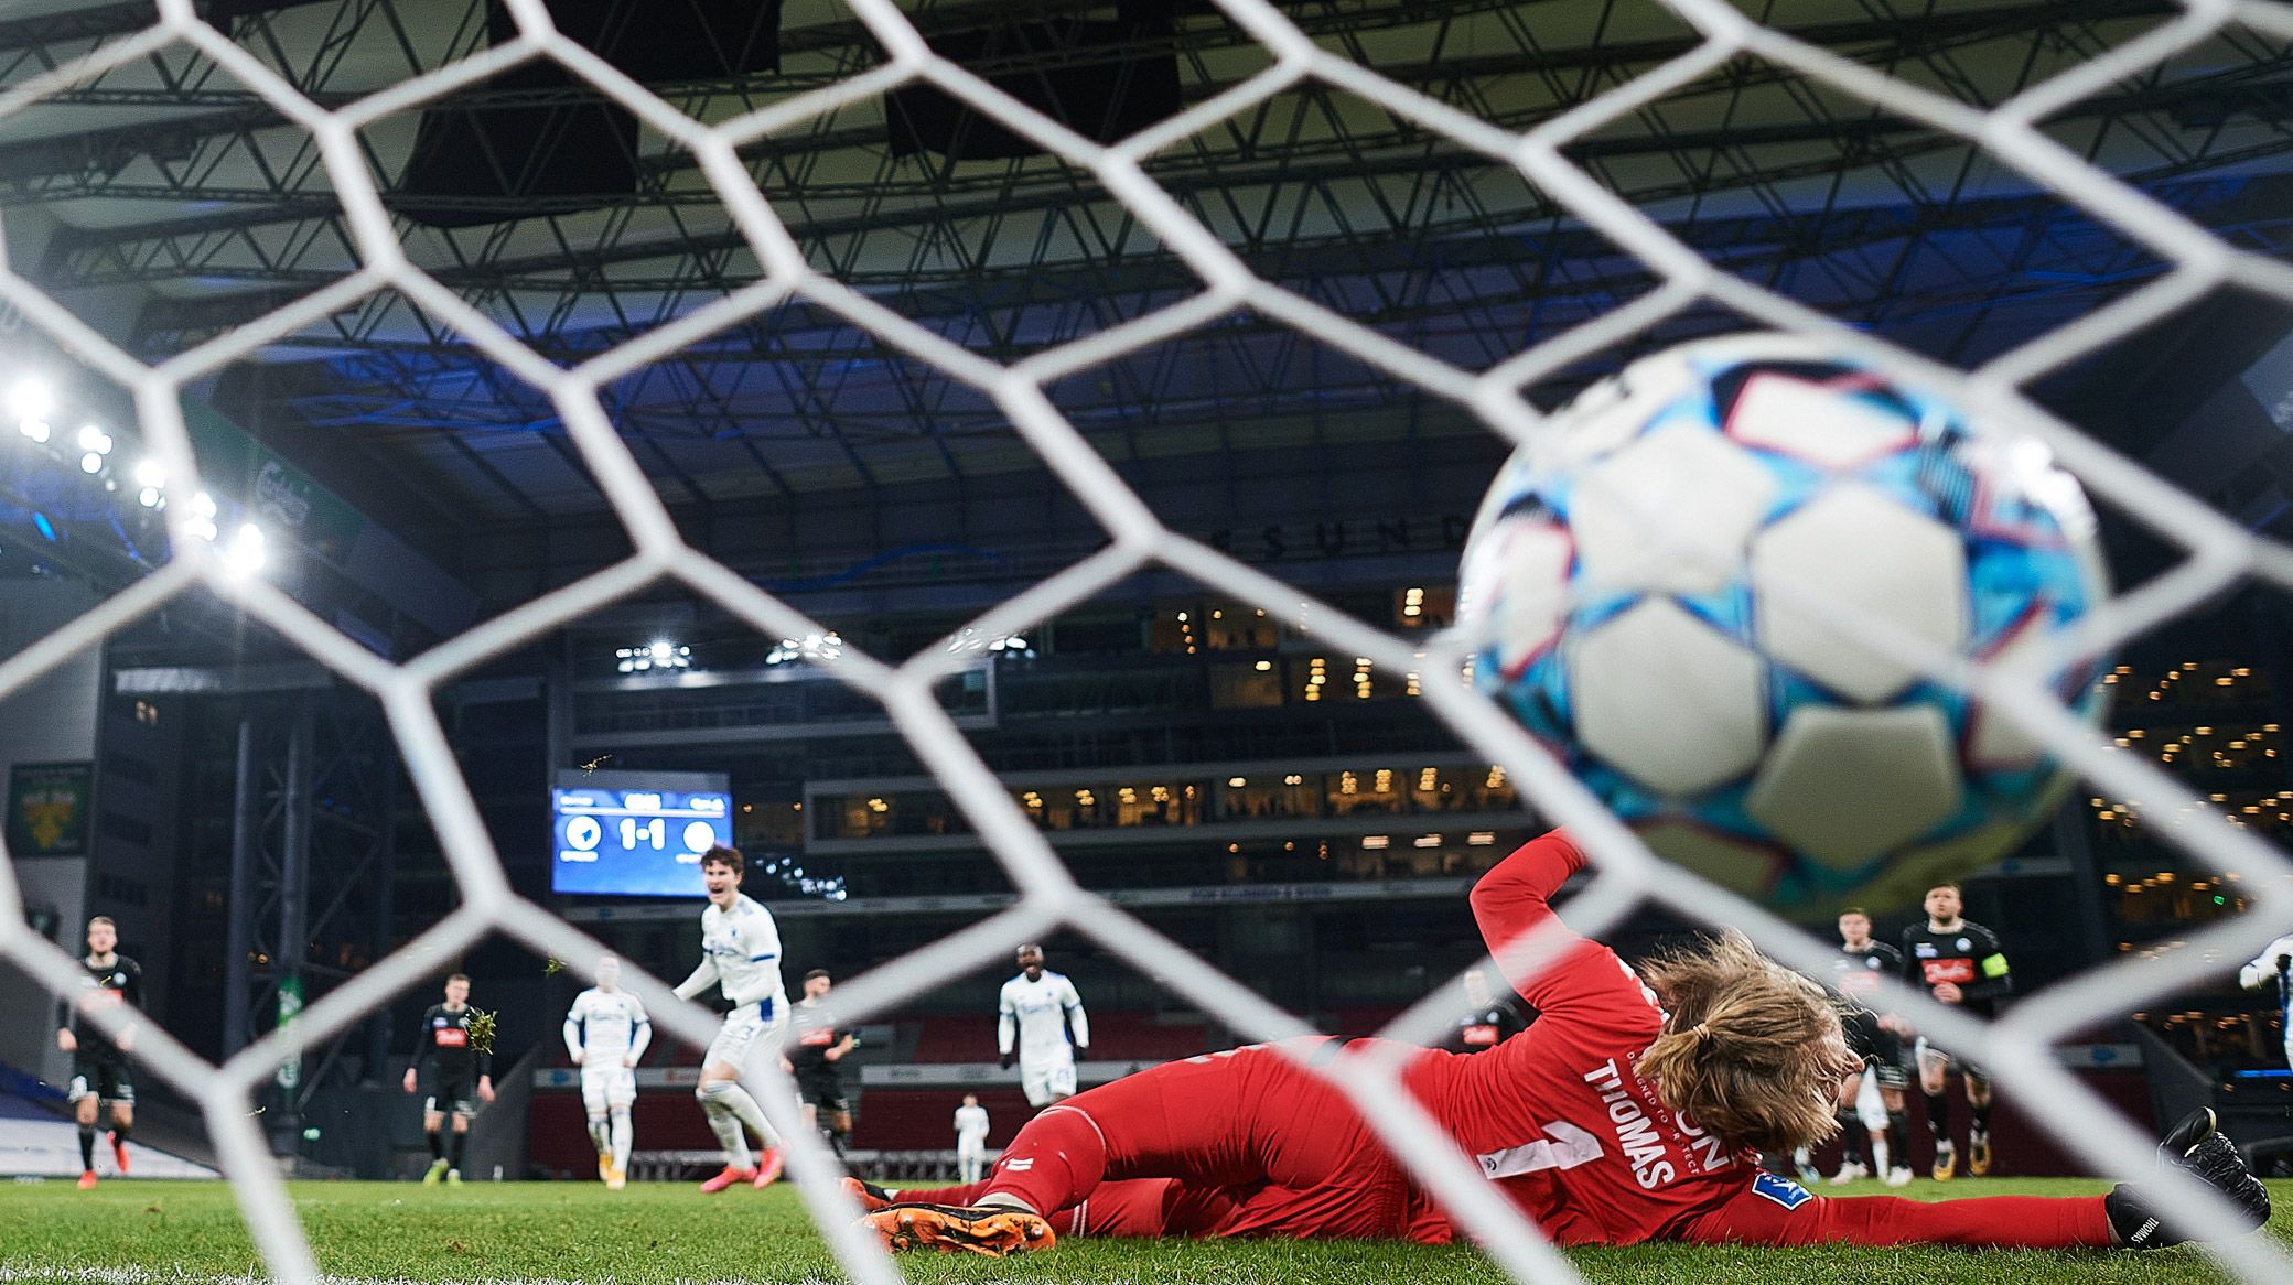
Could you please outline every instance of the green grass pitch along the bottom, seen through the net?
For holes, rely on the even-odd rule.
[[[1926,1182],[1903,1196],[2082,1196],[2080,1180]],[[1878,1196],[1857,1182],[1848,1196]],[[2270,1182],[2279,1214],[2270,1235],[2293,1244],[2293,1182]],[[842,1280],[796,1191],[702,1196],[690,1184],[605,1191],[589,1182],[300,1182],[296,1212],[328,1276],[353,1280],[585,1280],[617,1285],[709,1280]],[[1887,1280],[2013,1285],[2155,1285],[2229,1280],[2199,1251],[1947,1251],[1947,1248],[1743,1248],[1633,1246],[1573,1251],[1587,1280],[1619,1285],[1873,1285]],[[1504,1274],[1465,1246],[1385,1241],[1091,1241],[979,1260],[910,1255],[910,1280],[1059,1285],[1284,1285],[1442,1280],[1502,1285]],[[161,1285],[261,1274],[252,1239],[220,1182],[105,1180],[21,1184],[0,1196],[0,1285]]]

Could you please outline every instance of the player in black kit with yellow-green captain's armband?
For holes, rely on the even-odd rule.
[[[1997,1001],[2013,992],[1999,939],[1981,923],[1958,916],[1958,884],[1926,889],[1926,923],[1903,930],[1903,980],[1922,985],[1940,1003],[1956,1003],[1977,1017],[1995,1017]],[[1974,1063],[1961,1063],[1967,1079],[1967,1173],[1990,1173],[1990,1077]],[[1926,1127],[1935,1132],[1935,1177],[1949,1182],[1958,1173],[1958,1148],[1951,1145],[1949,1088],[1951,1054],[1919,1038],[1919,1093],[1926,1095]]]

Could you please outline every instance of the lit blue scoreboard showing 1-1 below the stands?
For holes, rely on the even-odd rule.
[[[550,891],[697,898],[702,852],[731,845],[731,786],[709,772],[559,772]]]

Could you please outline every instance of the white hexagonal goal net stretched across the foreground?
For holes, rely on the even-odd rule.
[[[1098,144],[1062,124],[1004,96],[986,80],[936,55],[892,0],[851,0],[851,11],[883,46],[883,62],[855,78],[789,98],[748,117],[704,126],[672,110],[658,96],[628,80],[589,50],[550,27],[541,0],[507,0],[518,37],[484,55],[449,64],[388,92],[335,105],[332,110],[298,94],[259,60],[234,46],[222,32],[199,21],[193,0],[158,0],[156,21],[128,39],[103,44],[76,62],[55,66],[0,94],[0,117],[39,101],[60,87],[85,82],[110,66],[144,57],[170,44],[188,44],[236,76],[275,112],[310,131],[328,174],[344,202],[362,266],[330,286],[282,307],[257,323],[241,325],[218,339],[161,364],[147,364],[112,346],[73,314],[30,286],[16,270],[0,270],[5,298],[30,325],[44,330],[76,357],[131,387],[147,442],[174,479],[197,479],[190,440],[177,403],[179,389],[204,373],[234,362],[264,344],[312,325],[330,312],[383,289],[397,289],[456,328],[470,344],[500,362],[509,373],[546,389],[562,415],[573,444],[610,495],[635,552],[587,580],[569,584],[541,600],[477,625],[438,648],[394,664],[378,660],[330,623],[303,609],[287,593],[255,577],[236,577],[211,547],[186,538],[188,506],[170,511],[177,557],[151,577],[103,602],[87,616],[41,639],[28,651],[0,662],[0,694],[34,680],[64,657],[99,644],[110,632],[158,609],[170,598],[197,584],[234,600],[255,618],[298,644],[349,683],[371,692],[385,710],[410,776],[429,809],[436,834],[463,891],[461,909],[429,928],[413,946],[326,994],[303,1012],[298,1024],[273,1031],[241,1049],[220,1067],[202,1063],[163,1031],[144,1031],[138,1061],[156,1077],[197,1099],[213,1134],[243,1216],[271,1267],[282,1280],[314,1280],[316,1264],[291,1214],[277,1168],[248,1118],[250,1095],[282,1058],[305,1042],[326,1040],[358,1022],[374,1006],[429,976],[433,951],[454,953],[482,935],[502,932],[537,953],[566,960],[589,973],[601,946],[573,930],[548,909],[511,893],[493,843],[479,822],[472,797],[461,781],[445,731],[431,708],[431,692],[452,676],[527,644],[585,612],[621,600],[640,589],[670,580],[752,623],[768,637],[805,637],[821,632],[798,609],[757,589],[752,582],[688,547],[663,502],[647,483],[628,447],[619,440],[601,405],[598,389],[644,362],[674,353],[709,330],[759,314],[786,300],[805,300],[828,309],[885,344],[926,362],[952,378],[977,387],[1009,417],[1041,463],[1080,495],[1110,534],[1094,557],[1030,586],[972,623],[981,637],[1030,628],[1108,584],[1160,566],[1181,573],[1206,589],[1243,602],[1296,605],[1296,589],[1227,557],[1204,543],[1167,529],[1146,504],[1130,492],[1085,437],[1062,417],[1046,385],[1064,373],[1108,362],[1156,344],[1174,332],[1204,325],[1211,318],[1250,309],[1261,318],[1298,328],[1328,341],[1392,380],[1417,385],[1429,394],[1472,408],[1488,426],[1513,442],[1532,442],[1543,431],[1543,417],[1527,403],[1523,387],[1582,355],[1628,341],[1651,323],[1697,305],[1720,305],[1768,328],[1830,334],[1880,369],[1917,378],[1928,387],[1951,389],[1970,408],[1995,408],[2032,424],[2075,472],[2089,492],[2110,509],[2149,527],[2171,543],[2176,566],[2126,591],[2082,625],[2075,648],[2105,655],[2112,646],[2155,630],[2194,609],[2208,598],[2261,582],[2293,589],[2293,552],[2256,541],[2236,522],[2176,492],[2135,463],[2112,454],[2075,428],[2038,408],[2025,387],[2038,376],[2064,366],[2132,330],[2174,312],[2192,298],[2236,282],[2293,302],[2293,270],[2233,245],[2176,211],[2149,199],[2135,188],[2087,165],[2036,124],[2066,103],[2096,94],[2119,78],[2139,73],[2192,44],[2222,30],[2252,30],[2272,39],[2293,39],[2293,14],[2279,5],[2190,0],[2185,11],[2144,37],[2091,57],[2064,76],[2038,82],[1988,110],[1970,108],[1922,85],[1889,78],[1869,66],[1841,60],[1823,48],[1795,41],[1745,18],[1720,0],[1665,0],[1697,39],[1678,57],[1594,96],[1527,133],[1511,133],[1465,115],[1417,89],[1380,78],[1362,64],[1341,57],[1305,37],[1282,11],[1261,0],[1218,0],[1218,7],[1261,41],[1273,62],[1261,73],[1229,92],[1117,144]],[[1754,57],[1786,66],[1825,87],[1977,142],[1993,163],[2011,167],[2038,190],[2082,208],[2094,220],[2144,245],[2174,268],[2119,302],[2061,325],[1979,369],[1938,366],[1908,350],[1867,339],[1832,318],[1782,293],[1750,284],[1697,257],[1658,222],[1619,199],[1564,156],[1564,147],[1601,124],[1633,112],[1669,87],[1678,87],[1711,69]],[[415,268],[392,234],[367,165],[360,160],[355,131],[410,105],[438,98],[477,82],[523,60],[555,60],[580,80],[612,96],[647,126],[690,149],[734,222],[766,266],[764,279],[699,312],[679,318],[642,339],[603,353],[578,369],[559,369],[518,344],[509,332],[468,307],[438,279]],[[1660,289],[1601,316],[1573,332],[1539,344],[1516,357],[1472,373],[1426,353],[1392,341],[1376,330],[1341,316],[1318,302],[1277,289],[1257,277],[1206,224],[1197,222],[1169,192],[1149,179],[1142,158],[1188,133],[1202,131],[1222,115],[1243,110],[1286,87],[1318,80],[1348,92],[1396,119],[1445,135],[1454,144],[1518,170],[1529,183],[1557,199],[1571,215],[1601,229],[1610,241],[1642,259]],[[1204,282],[1204,293],[1185,305],[1142,316],[1126,325],[1085,337],[1069,346],[1036,353],[1016,364],[984,360],[926,328],[881,307],[871,298],[809,268],[805,254],[761,199],[743,170],[736,149],[789,124],[828,112],[864,94],[929,82],[993,117],[1030,142],[1055,151],[1069,165],[1089,172],[1110,195],[1153,229]],[[1649,513],[1662,522],[1662,513]],[[2130,1006],[2185,987],[2217,964],[2215,957],[2245,957],[2270,939],[2268,921],[2286,923],[2279,884],[2293,875],[2293,864],[2270,845],[2231,825],[2204,799],[2153,763],[2114,754],[2112,744],[2075,719],[2029,667],[1990,664],[1951,667],[1922,648],[1917,637],[1901,637],[1887,621],[1855,612],[1853,602],[1807,602],[1823,616],[1825,630],[1857,637],[1876,651],[1903,657],[1910,669],[1963,692],[1979,694],[1993,710],[2084,776],[2096,793],[2146,799],[2190,799],[2192,820],[2167,836],[2199,852],[2222,870],[2236,870],[2254,891],[2261,916],[2243,916],[2194,932],[2190,946],[2155,960],[2121,957],[2068,983],[2025,999],[1997,1024],[1967,1019],[1944,1010],[1922,994],[1892,990],[1889,999],[1910,1012],[1922,1031],[1965,1049],[1986,1063],[2006,1093],[2029,1111],[2071,1152],[2100,1173],[2146,1173],[2151,1138],[2112,1115],[2103,1102],[2080,1086],[2052,1056],[2052,1044],[2098,1019],[2123,1015]],[[1465,651],[1449,639],[1408,644],[1335,609],[1312,614],[1312,632],[1348,655],[1369,657],[1392,671],[1449,671],[1463,667]],[[1419,653],[1417,648],[1426,651]],[[1103,948],[1153,971],[1172,990],[1236,1031],[1259,1040],[1282,1040],[1312,1033],[1296,1015],[1284,1012],[1247,987],[1163,939],[1137,919],[1082,889],[1062,866],[1046,836],[1027,822],[1000,788],[993,772],[958,735],[949,717],[933,703],[931,687],[945,678],[958,657],[926,651],[903,664],[883,664],[846,653],[821,660],[837,678],[883,703],[922,763],[938,776],[947,795],[965,811],[988,841],[1000,864],[1020,889],[1009,909],[963,932],[940,939],[901,960],[883,964],[839,990],[851,1017],[878,1012],[915,996],[942,978],[984,967],[1016,941],[1052,928],[1091,937]],[[1598,937],[1626,914],[1658,905],[1706,923],[1729,923],[1750,932],[1775,957],[1818,971],[1828,967],[1825,944],[1766,914],[1759,905],[1706,880],[1660,866],[1591,795],[1587,795],[1550,756],[1490,703],[1463,685],[1429,685],[1429,708],[1463,740],[1502,763],[1527,802],[1539,813],[1566,825],[1594,857],[1589,886],[1571,902],[1571,923]],[[76,985],[73,962],[25,930],[14,866],[0,877],[0,953],[57,994]],[[1520,957],[1509,964],[1534,969],[1550,953],[1550,937],[1532,937]],[[676,1001],[654,978],[631,978],[631,987],[654,1008],[658,1022],[679,1040],[706,1044],[715,1022],[697,1006]],[[1396,1042],[1415,1042],[1435,1033],[1451,1012],[1456,990],[1429,996],[1390,1028]],[[1523,1219],[1481,1182],[1472,1161],[1447,1141],[1433,1120],[1408,1106],[1399,1090],[1399,1063],[1387,1047],[1351,1051],[1330,1065],[1312,1067],[1348,1093],[1383,1141],[1410,1173],[1456,1216],[1518,1280],[1575,1280],[1575,1271]],[[766,1070],[761,1074],[777,1074]],[[874,1239],[853,1230],[853,1214],[832,1182],[835,1166],[823,1145],[796,1127],[793,1097],[764,1095],[768,1111],[782,1115],[780,1129],[789,1145],[789,1166],[803,1198],[830,1239],[835,1253],[855,1280],[883,1285],[899,1280],[897,1267]],[[1396,1104],[1401,1104],[1396,1109]],[[2194,1230],[2229,1230],[2231,1212],[2190,1180],[2160,1175],[2160,1191],[2178,1203]],[[2224,1235],[2210,1246],[2238,1278],[2261,1285],[2293,1278],[2293,1262],[2259,1237]]]

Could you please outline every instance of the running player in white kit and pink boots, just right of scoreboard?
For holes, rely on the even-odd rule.
[[[741,870],[736,848],[702,852],[702,884],[709,889],[702,964],[676,983],[676,999],[692,999],[713,985],[731,1001],[725,1026],[702,1058],[702,1083],[692,1090],[709,1115],[709,1129],[725,1143],[725,1173],[702,1182],[702,1191],[725,1191],[736,1182],[766,1187],[780,1177],[780,1134],[741,1088],[741,1070],[750,1047],[786,1019],[789,994],[780,985],[780,925],[773,923],[773,912],[741,896]],[[750,1157],[743,1125],[764,1143],[761,1157]]]

